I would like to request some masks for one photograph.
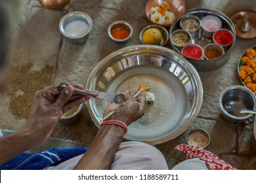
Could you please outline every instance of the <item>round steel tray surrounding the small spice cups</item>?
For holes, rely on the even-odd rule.
[[[217,16],[221,19],[221,22],[222,22],[221,29],[228,29],[234,35],[236,35],[234,24],[228,18],[228,16],[226,16],[223,12],[220,12],[219,10],[209,9],[209,8],[194,8],[192,10],[189,10],[188,12],[186,12],[185,14],[183,14],[182,16],[180,16],[179,18],[177,18],[175,20],[175,22],[173,23],[173,25],[171,26],[171,29],[170,29],[170,36],[169,36],[170,42],[171,42],[171,33],[173,33],[173,31],[175,31],[177,29],[181,29],[180,21],[182,18],[184,18],[185,16],[188,16],[188,15],[198,16],[198,18],[200,18],[200,20],[202,20],[202,18],[207,15]],[[228,59],[230,58],[230,54],[232,52],[235,39],[236,39],[236,37],[234,37],[233,43],[224,49],[225,54],[219,58],[209,59],[209,60],[206,60],[206,59],[196,60],[196,59],[187,58],[186,56],[184,56],[184,57],[186,59],[188,59],[188,61],[190,61],[192,63],[192,65],[194,65],[196,70],[198,70],[198,71],[210,71],[213,69],[217,69],[218,67],[221,67],[222,65],[224,65],[224,63],[226,63],[226,61],[228,61]],[[198,37],[192,38],[192,43],[199,44],[200,46],[202,46],[202,48],[204,48],[204,46],[206,46],[207,44],[213,43],[213,40],[205,39],[205,37],[203,37],[202,27],[201,27]],[[179,54],[181,54],[181,48],[177,48],[177,46],[175,46],[172,42],[171,42],[171,46],[172,46],[173,50],[175,50],[175,51],[179,52]]]

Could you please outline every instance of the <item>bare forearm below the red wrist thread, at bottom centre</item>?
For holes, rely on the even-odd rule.
[[[125,130],[118,125],[102,125],[75,169],[109,169],[123,135]]]

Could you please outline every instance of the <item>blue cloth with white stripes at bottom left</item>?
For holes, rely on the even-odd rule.
[[[79,156],[86,148],[50,148],[40,153],[24,152],[0,166],[1,170],[41,170],[68,159]]]

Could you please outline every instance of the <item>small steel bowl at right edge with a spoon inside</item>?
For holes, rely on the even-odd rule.
[[[219,107],[223,114],[224,119],[227,122],[233,122],[236,124],[245,124],[247,120],[253,117],[252,114],[237,114],[236,116],[228,113],[224,107],[225,105],[235,105],[239,108],[248,108],[255,110],[256,100],[255,94],[244,86],[230,86],[221,92],[219,97]]]

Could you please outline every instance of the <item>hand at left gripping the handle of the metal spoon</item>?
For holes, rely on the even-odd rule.
[[[83,89],[81,85],[74,86]],[[46,141],[51,136],[58,120],[65,112],[90,99],[89,95],[72,96],[73,91],[72,86],[67,86],[61,92],[53,86],[35,93],[32,112],[24,128],[35,133],[37,144]]]

